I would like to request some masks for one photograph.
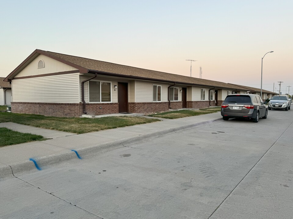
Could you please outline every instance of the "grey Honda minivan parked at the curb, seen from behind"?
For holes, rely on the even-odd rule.
[[[268,116],[267,102],[256,94],[231,94],[222,103],[221,115],[223,120],[229,118],[245,118],[258,122],[259,118]]]

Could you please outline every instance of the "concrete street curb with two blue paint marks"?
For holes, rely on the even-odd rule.
[[[90,156],[93,156],[93,155],[96,155],[99,153],[103,153],[103,152],[106,152],[109,150],[118,149],[119,147],[120,148],[127,147],[126,146],[127,144],[134,144],[134,143],[138,143],[140,141],[146,141],[150,138],[159,137],[159,136],[166,135],[166,134],[171,134],[171,133],[183,131],[183,130],[186,130],[189,128],[194,128],[194,127],[198,127],[198,126],[202,126],[202,125],[211,124],[217,120],[222,120],[222,118],[213,119],[213,120],[206,120],[206,121],[198,122],[198,123],[191,123],[191,124],[183,125],[180,127],[169,128],[169,129],[165,129],[165,130],[161,130],[161,131],[157,131],[157,132],[138,135],[135,137],[129,137],[129,138],[121,139],[121,140],[110,141],[110,142],[106,142],[106,143],[92,146],[89,148],[76,149],[75,151],[78,153],[78,155],[81,156],[81,159],[87,158],[87,157],[90,157]],[[65,153],[61,153],[61,154],[49,155],[46,157],[36,158],[36,159],[34,159],[34,161],[37,162],[38,166],[41,169],[45,169],[46,166],[49,166],[49,165],[57,164],[60,162],[71,160],[71,159],[78,159],[78,156],[75,153],[75,151],[69,150],[69,151],[67,151]],[[11,164],[11,165],[6,165],[4,167],[0,167],[0,179],[6,178],[9,176],[13,177],[13,176],[15,176],[15,174],[21,174],[21,173],[27,172],[27,171],[38,171],[36,169],[34,162],[32,162],[31,160],[15,163],[15,164]]]

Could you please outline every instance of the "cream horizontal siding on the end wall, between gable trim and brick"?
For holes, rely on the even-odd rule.
[[[13,79],[13,102],[79,103],[78,75]]]

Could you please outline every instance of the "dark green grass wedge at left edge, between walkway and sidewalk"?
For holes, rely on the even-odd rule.
[[[0,127],[0,147],[42,140],[45,140],[45,138],[41,135],[21,133],[8,128]]]

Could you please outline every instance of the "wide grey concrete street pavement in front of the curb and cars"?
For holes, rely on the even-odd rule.
[[[293,110],[270,110],[15,172],[0,180],[0,217],[292,218],[292,123]]]

